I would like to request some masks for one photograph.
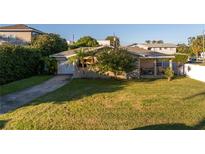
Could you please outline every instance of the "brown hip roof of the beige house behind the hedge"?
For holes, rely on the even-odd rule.
[[[17,25],[10,25],[10,26],[2,26],[0,27],[0,32],[7,32],[7,31],[26,31],[26,32],[37,32],[37,33],[43,33],[40,30],[37,30],[35,28],[29,27],[24,24],[17,24]]]

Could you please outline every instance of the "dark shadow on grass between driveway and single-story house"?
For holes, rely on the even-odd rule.
[[[64,103],[78,100],[83,97],[100,93],[116,92],[123,89],[128,81],[125,80],[98,80],[98,79],[74,79],[62,88],[37,98],[28,105],[35,105],[44,102]]]

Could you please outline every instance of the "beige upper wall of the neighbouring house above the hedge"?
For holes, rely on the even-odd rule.
[[[31,42],[31,32],[0,32],[0,36],[13,37],[24,42]]]

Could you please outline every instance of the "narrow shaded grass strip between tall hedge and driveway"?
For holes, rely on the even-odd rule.
[[[49,78],[51,78],[50,75],[33,76],[23,80],[14,81],[9,84],[1,85],[0,96],[13,93],[28,87],[32,87],[34,85],[42,83],[43,81],[48,80]]]

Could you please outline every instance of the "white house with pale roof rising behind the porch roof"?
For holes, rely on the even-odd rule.
[[[175,54],[177,46],[172,43],[159,43],[159,44],[133,44],[131,47],[139,47],[150,51],[160,52],[163,54]]]

